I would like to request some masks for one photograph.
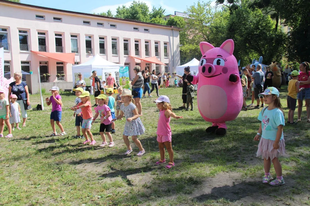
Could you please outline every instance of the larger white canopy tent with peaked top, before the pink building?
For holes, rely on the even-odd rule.
[[[78,80],[78,74],[82,74],[82,79],[85,82],[89,82],[89,77],[91,76],[91,72],[96,70],[97,76],[100,80],[105,80],[108,77],[108,73],[112,73],[112,76],[119,83],[119,67],[124,66],[122,64],[116,64],[109,62],[99,54],[96,54],[91,60],[84,62],[83,64],[72,66],[72,77],[73,77],[73,86]]]

